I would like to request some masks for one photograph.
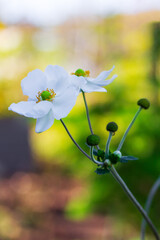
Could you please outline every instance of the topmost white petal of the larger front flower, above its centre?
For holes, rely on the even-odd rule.
[[[63,67],[48,65],[45,69],[45,74],[47,76],[47,87],[53,89],[56,94],[67,88],[69,75]]]

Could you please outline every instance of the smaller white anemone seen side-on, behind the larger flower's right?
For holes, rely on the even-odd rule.
[[[117,77],[115,74],[113,77],[106,80],[113,69],[114,66],[108,71],[101,72],[96,78],[90,77],[90,71],[77,69],[76,72],[71,75],[71,82],[75,87],[79,88],[80,92],[107,92],[103,87],[110,84]]]

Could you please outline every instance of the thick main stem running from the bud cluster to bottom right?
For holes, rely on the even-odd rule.
[[[150,218],[148,217],[147,213],[145,212],[145,210],[142,208],[142,206],[139,204],[139,202],[136,200],[136,198],[133,196],[133,194],[131,193],[131,191],[129,190],[129,188],[127,187],[127,185],[125,184],[125,182],[123,181],[123,179],[119,176],[119,174],[117,173],[116,169],[114,167],[112,167],[110,169],[112,176],[116,179],[116,181],[121,185],[121,187],[123,188],[124,192],[127,194],[127,196],[129,197],[129,199],[132,201],[132,203],[136,206],[136,208],[139,210],[139,212],[142,214],[142,216],[144,217],[144,219],[146,220],[146,222],[148,223],[148,225],[150,226],[155,238],[157,240],[160,240],[159,234],[157,232],[157,229],[155,228],[155,226],[153,225],[152,221],[150,220]]]

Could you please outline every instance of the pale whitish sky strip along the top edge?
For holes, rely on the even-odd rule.
[[[0,21],[57,25],[73,17],[160,10],[159,0],[0,0]]]

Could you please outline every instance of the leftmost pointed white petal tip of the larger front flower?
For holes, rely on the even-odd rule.
[[[32,117],[30,112],[35,104],[35,101],[12,103],[8,110],[24,115],[25,117]]]

